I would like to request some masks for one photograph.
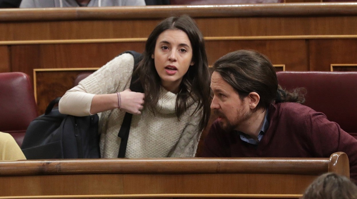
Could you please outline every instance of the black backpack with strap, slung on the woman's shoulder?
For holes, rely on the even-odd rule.
[[[140,53],[125,51],[134,56],[134,70],[141,61]],[[121,54],[123,54],[121,53]],[[130,89],[143,92],[139,77],[131,78]],[[90,116],[73,116],[61,114],[54,105],[61,98],[56,98],[27,127],[21,150],[27,159],[62,159],[62,158],[100,158],[97,114]],[[121,137],[118,157],[124,157],[127,138],[129,137],[132,114],[125,113],[119,130]]]

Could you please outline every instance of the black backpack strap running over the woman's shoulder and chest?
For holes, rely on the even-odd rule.
[[[141,61],[142,56],[141,53],[135,52],[135,51],[125,51],[123,53],[130,53],[134,57],[134,70],[137,68],[138,63]],[[121,53],[121,54],[123,54]],[[140,81],[137,81],[139,79],[139,75],[137,73],[133,73],[130,81],[130,90],[134,92],[140,92],[144,93],[144,89],[141,86]],[[132,114],[129,112],[125,113],[123,123],[121,124],[118,137],[121,138],[120,141],[120,147],[119,147],[119,153],[118,153],[118,158],[124,158],[125,157],[125,152],[126,152],[126,145],[128,143],[128,138],[129,138],[129,131],[130,131],[130,125],[131,125],[131,117]]]

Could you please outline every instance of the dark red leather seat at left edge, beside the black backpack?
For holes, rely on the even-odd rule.
[[[27,126],[38,116],[30,78],[21,72],[0,73],[0,131],[21,146]]]

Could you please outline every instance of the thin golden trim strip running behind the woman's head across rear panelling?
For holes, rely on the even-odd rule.
[[[355,39],[355,38],[357,38],[357,35],[225,36],[225,37],[204,37],[204,38],[205,38],[206,41]],[[145,42],[146,40],[147,40],[147,38],[74,39],[74,40],[23,40],[23,41],[20,40],[20,41],[0,41],[0,45]]]

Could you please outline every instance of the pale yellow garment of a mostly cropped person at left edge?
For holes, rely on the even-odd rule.
[[[26,159],[9,133],[0,132],[0,161]]]

